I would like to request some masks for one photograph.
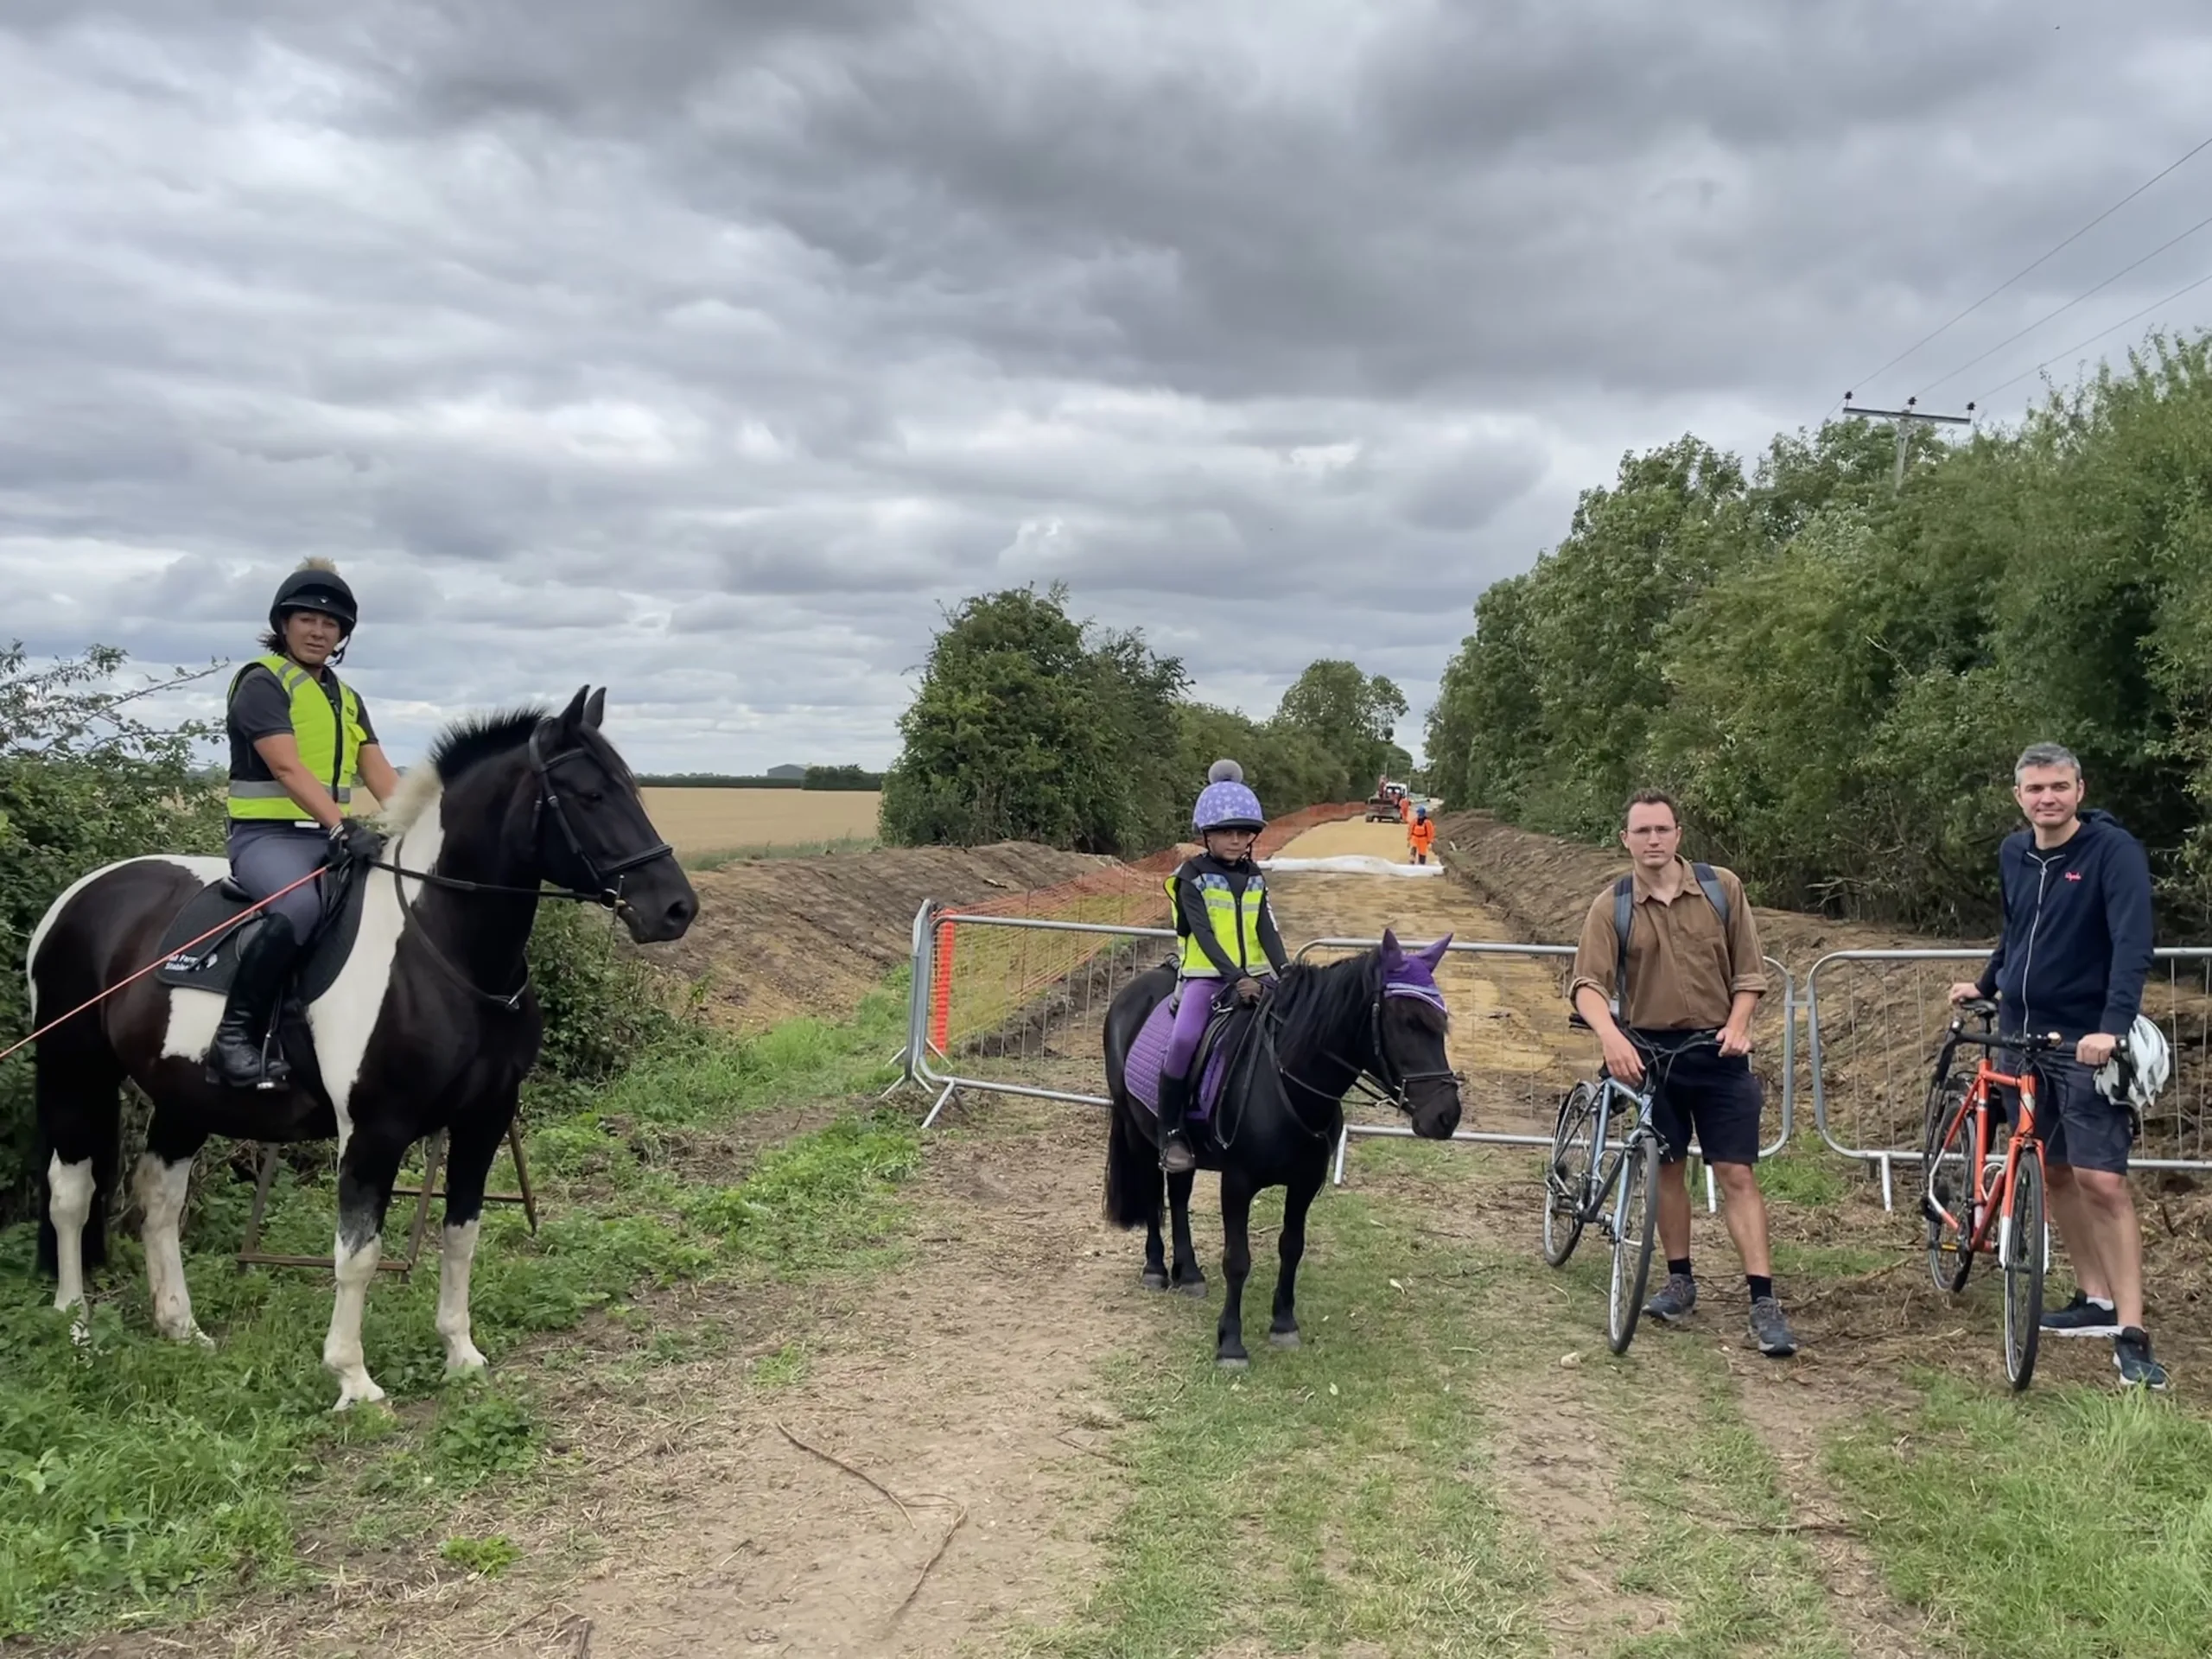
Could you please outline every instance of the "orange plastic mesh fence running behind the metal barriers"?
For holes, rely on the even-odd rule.
[[[1363,812],[1365,803],[1287,812],[1261,832],[1254,852],[1259,858],[1272,858],[1316,823],[1338,823]],[[1108,951],[1157,951],[1164,960],[1170,953],[1166,940],[1029,927],[960,927],[962,918],[1024,916],[1042,922],[1168,927],[1172,918],[1166,880],[1188,854],[1188,847],[1168,847],[1075,880],[940,911],[929,987],[929,1046],[942,1055],[956,1042],[1002,1029],[1031,1002]]]

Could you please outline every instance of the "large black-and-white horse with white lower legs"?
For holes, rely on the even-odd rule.
[[[586,688],[588,690],[588,688]],[[223,1088],[206,1075],[223,998],[144,978],[38,1042],[38,1130],[46,1152],[40,1265],[53,1305],[84,1305],[84,1270],[106,1261],[106,1194],[119,1161],[119,1086],[153,1102],[135,1192],[144,1212],[155,1325],[208,1340],[192,1321],[177,1225],[192,1159],[210,1135],[338,1141],[336,1305],[323,1365],[338,1409],[380,1400],[361,1354],[385,1208],[407,1148],[447,1133],[438,1334],[447,1369],[482,1369],[469,1336],[469,1265],[484,1177],[515,1115],[542,1024],[524,949],[540,885],[611,905],[639,942],[679,938],[697,896],[659,838],[637,781],[599,734],[606,692],[566,710],[515,710],[449,728],[385,805],[385,867],[356,874],[358,931],[305,1004],[310,1046],[292,1082]],[[409,872],[409,874],[400,874]],[[84,876],[31,936],[38,1009],[73,1009],[161,951],[164,929],[221,858],[128,858]],[[290,1033],[299,1035],[299,1033]]]

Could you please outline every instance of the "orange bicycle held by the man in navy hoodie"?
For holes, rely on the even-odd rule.
[[[2044,1141],[2035,1126],[2035,1055],[2064,1046],[2057,1033],[2000,1037],[1995,1002],[1962,1002],[1936,1055],[1920,1139],[1920,1214],[1929,1225],[1929,1279],[1960,1292],[1973,1252],[1995,1248],[2004,1272],[2004,1376],[2013,1389],[2035,1376],[2035,1343],[2044,1321],[2044,1270],[2051,1263],[2051,1212],[2044,1203]],[[1969,1031],[1973,1020],[1978,1029]],[[2002,1073],[1984,1053],[1973,1075],[1951,1068],[1960,1044],[2008,1048],[2028,1064]],[[2000,1088],[2020,1091],[2020,1110],[2004,1135]],[[2004,1137],[2002,1155],[1997,1139]],[[1991,1239],[1995,1234],[1995,1239]]]

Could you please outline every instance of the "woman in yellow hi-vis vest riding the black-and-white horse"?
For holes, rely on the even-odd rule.
[[[281,894],[239,956],[208,1051],[212,1079],[232,1088],[290,1079],[268,1042],[270,1020],[323,920],[323,883],[294,883],[376,856],[376,834],[345,816],[354,785],[367,783],[378,801],[398,792],[367,706],[332,668],[356,622],[354,591],[336,566],[307,560],[276,586],[263,655],[230,681],[230,876],[250,898]]]

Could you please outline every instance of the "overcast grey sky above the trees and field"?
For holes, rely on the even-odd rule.
[[[1418,721],[1624,449],[2008,376],[2212,272],[2201,0],[4,0],[0,641],[252,650],[341,562],[411,761],[608,684],[655,770],[887,763],[1066,580]],[[2212,285],[2152,323],[2212,321]]]

